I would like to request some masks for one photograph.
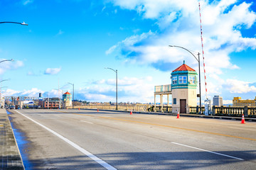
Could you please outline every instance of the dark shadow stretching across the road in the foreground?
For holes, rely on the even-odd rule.
[[[255,151],[219,152],[247,157],[247,162],[207,152],[124,152],[97,154],[116,169],[253,169]],[[80,157],[55,157],[30,160],[28,169],[104,169],[94,161]],[[247,164],[250,161],[250,164]],[[247,166],[245,165],[247,164]]]

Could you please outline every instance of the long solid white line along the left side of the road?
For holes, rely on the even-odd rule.
[[[18,111],[16,111],[17,113],[20,113]],[[23,115],[22,113],[20,113],[21,115]],[[28,118],[28,116],[23,115],[24,117]],[[117,170],[115,169],[113,166],[111,166],[110,164],[107,164],[107,162],[102,161],[102,159],[96,157],[95,155],[91,154],[90,152],[87,152],[87,150],[83,149],[82,147],[76,145],[74,142],[71,142],[70,140],[68,140],[67,138],[63,137],[62,135],[58,134],[57,132],[51,130],[50,128],[47,128],[45,125],[42,125],[41,123],[36,122],[35,120],[28,118],[29,120],[33,121],[34,123],[40,125],[42,128],[45,128],[46,130],[48,130],[49,132],[53,133],[54,135],[60,137],[61,140],[64,140],[65,142],[67,142],[69,145],[75,147],[75,149],[78,149],[80,152],[82,152],[83,154],[86,154],[87,157],[90,157],[90,159],[94,160],[95,162],[97,162],[98,164],[102,165],[103,167],[105,167],[105,169],[110,169],[110,170]]]

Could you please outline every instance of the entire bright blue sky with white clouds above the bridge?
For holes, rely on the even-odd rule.
[[[4,96],[58,96],[86,101],[154,102],[154,86],[170,84],[171,71],[198,64],[179,45],[201,52],[196,0],[2,0],[0,64]],[[256,4],[200,1],[208,97],[256,96]],[[202,56],[201,56],[202,57]],[[201,59],[202,60],[202,59]],[[203,63],[201,63],[203,66]],[[205,86],[202,74],[202,92]],[[159,100],[159,98],[157,99]]]

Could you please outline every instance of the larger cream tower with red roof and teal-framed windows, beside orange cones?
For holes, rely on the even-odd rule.
[[[189,113],[188,106],[197,106],[196,70],[183,64],[171,72],[172,113]]]

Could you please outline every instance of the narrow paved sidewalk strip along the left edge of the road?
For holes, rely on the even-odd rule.
[[[0,169],[24,169],[6,110],[0,108]]]

